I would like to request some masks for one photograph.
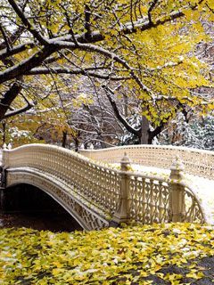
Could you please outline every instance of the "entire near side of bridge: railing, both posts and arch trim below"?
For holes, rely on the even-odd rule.
[[[206,222],[199,200],[182,180],[179,161],[163,178],[129,172],[128,158],[120,154],[117,170],[53,145],[24,145],[3,151],[2,185],[36,185],[86,230],[121,222]]]

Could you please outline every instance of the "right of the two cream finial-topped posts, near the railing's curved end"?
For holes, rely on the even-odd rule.
[[[185,215],[185,188],[180,184],[185,167],[177,157],[169,175],[169,210],[171,222],[183,222]]]

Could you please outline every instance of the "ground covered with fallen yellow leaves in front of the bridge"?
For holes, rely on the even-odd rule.
[[[214,228],[0,230],[0,284],[213,284]]]

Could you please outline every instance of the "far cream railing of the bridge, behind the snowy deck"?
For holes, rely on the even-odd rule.
[[[185,172],[191,175],[214,179],[214,151],[202,151],[168,145],[128,145],[103,150],[80,150],[90,159],[106,163],[119,163],[124,151],[132,163],[145,167],[169,169],[179,157],[185,165]]]

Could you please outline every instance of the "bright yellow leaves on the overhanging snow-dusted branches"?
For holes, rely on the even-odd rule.
[[[213,1],[159,1],[150,13],[150,27],[148,12],[151,4],[151,0],[136,1],[134,6],[127,0],[32,0],[27,3],[27,11],[30,23],[40,30],[43,37],[62,39],[73,33],[78,38],[87,31],[88,5],[91,12],[90,30],[95,35],[100,33],[103,39],[91,43],[89,41],[89,44],[86,40],[87,47],[83,48],[80,43],[71,50],[68,48],[62,49],[61,53],[53,53],[56,61],[50,64],[45,62],[44,66],[48,66],[49,70],[59,67],[79,69],[80,74],[87,76],[86,70],[93,70],[95,66],[103,64],[102,70],[95,70],[97,77],[102,76],[105,69],[107,77],[110,78],[132,77],[124,80],[123,85],[129,89],[136,89],[136,96],[142,102],[142,107],[148,110],[146,117],[159,125],[160,118],[166,119],[166,112],[171,115],[175,112],[175,102],[191,108],[199,107],[202,100],[199,96],[193,97],[191,91],[193,88],[211,84],[208,77],[209,66],[198,61],[194,53],[199,43],[210,40],[210,36],[204,31],[203,20],[213,20]],[[180,12],[181,15],[172,20],[175,12]],[[35,15],[37,17],[34,17]],[[8,20],[11,20],[10,14]],[[17,17],[17,24],[20,24],[20,21]],[[30,32],[28,37],[31,42],[35,42]],[[20,41],[15,45],[20,45]],[[42,45],[37,43],[35,47],[30,48],[30,45],[26,44],[26,48],[27,50],[12,56],[14,64],[19,64],[38,53]],[[4,61],[2,63],[1,71],[5,69]],[[25,84],[28,87],[23,93],[28,98],[37,97],[35,90],[39,86],[40,96],[43,93],[48,94],[49,103],[46,104],[59,105],[60,100],[56,100],[56,94],[69,94],[70,86],[73,89],[78,88],[70,83],[70,75],[64,76],[63,79],[64,81],[54,72],[51,72],[51,75],[37,77],[25,76]],[[69,82],[69,86],[66,85],[66,81]],[[4,93],[5,86],[0,88]],[[53,103],[50,103],[52,100]],[[38,99],[38,103],[41,101],[44,103]],[[93,102],[91,95],[83,94],[72,100],[75,108]],[[17,102],[13,104],[18,105]],[[212,102],[206,104],[207,110],[212,109]],[[65,116],[61,116],[62,120],[65,120]]]

